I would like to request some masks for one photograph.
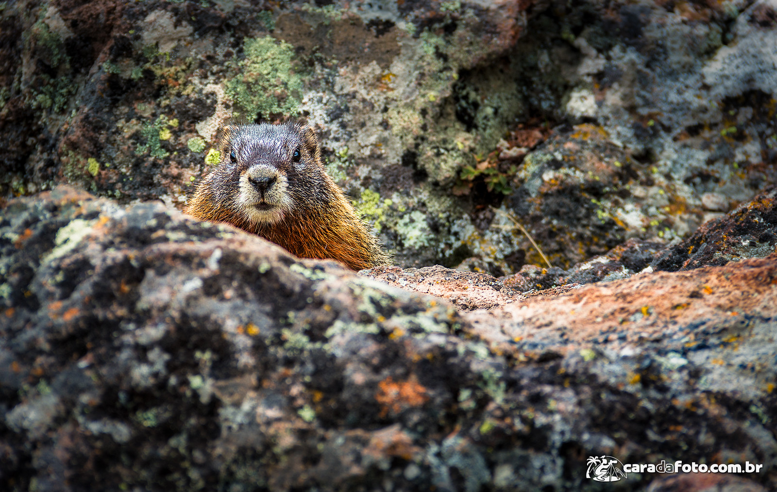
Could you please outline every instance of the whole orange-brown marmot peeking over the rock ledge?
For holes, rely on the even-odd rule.
[[[186,213],[231,223],[301,258],[333,258],[354,270],[390,263],[326,174],[311,127],[226,126],[218,152],[218,166],[197,185]]]

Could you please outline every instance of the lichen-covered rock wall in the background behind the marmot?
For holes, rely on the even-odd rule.
[[[324,5],[326,4],[326,5]],[[777,180],[773,0],[76,2],[0,12],[0,193],[181,207],[228,120],[304,116],[403,268],[569,269]]]

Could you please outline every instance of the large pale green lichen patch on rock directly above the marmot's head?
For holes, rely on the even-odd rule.
[[[272,36],[244,38],[244,60],[239,74],[227,82],[226,93],[249,120],[257,116],[296,116],[300,105],[302,78],[294,71],[294,47]]]

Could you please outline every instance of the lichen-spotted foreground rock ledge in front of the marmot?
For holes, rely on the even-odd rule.
[[[773,490],[775,196],[501,279],[357,275],[67,187],[12,199],[0,489]],[[603,455],[763,466],[586,478]]]

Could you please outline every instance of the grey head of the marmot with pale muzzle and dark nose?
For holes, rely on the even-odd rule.
[[[219,142],[220,180],[237,191],[237,212],[272,224],[304,208],[326,175],[315,131],[297,123],[227,126]]]

